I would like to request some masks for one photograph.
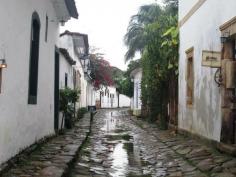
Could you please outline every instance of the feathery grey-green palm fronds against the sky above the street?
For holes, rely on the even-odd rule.
[[[163,10],[158,4],[149,4],[141,6],[138,14],[131,17],[124,37],[125,45],[128,46],[125,62],[132,59],[136,52],[142,53],[147,44],[145,27],[154,23],[162,12]]]

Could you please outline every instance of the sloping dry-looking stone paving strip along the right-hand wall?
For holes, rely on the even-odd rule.
[[[220,153],[216,149],[193,140],[190,137],[175,135],[170,131],[161,131],[156,126],[151,126],[147,122],[131,119],[136,125],[143,125],[142,129],[149,135],[154,136],[162,142],[166,148],[171,149],[177,156],[191,164],[192,167],[181,167],[183,176],[197,176],[196,169],[211,177],[233,177],[236,176],[236,158]],[[194,168],[190,173],[189,169]],[[186,173],[187,172],[187,173]]]

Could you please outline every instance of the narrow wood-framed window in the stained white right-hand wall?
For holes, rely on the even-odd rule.
[[[193,104],[194,95],[194,68],[193,68],[193,48],[186,51],[187,55],[187,105]]]

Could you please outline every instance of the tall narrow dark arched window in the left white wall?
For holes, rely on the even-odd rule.
[[[29,68],[29,93],[28,103],[37,104],[38,92],[38,60],[39,60],[40,19],[37,12],[32,15],[31,22],[31,47]]]

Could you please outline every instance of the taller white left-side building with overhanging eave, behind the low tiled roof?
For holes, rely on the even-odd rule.
[[[80,89],[79,107],[95,106],[96,91],[91,83],[88,73],[89,43],[88,36],[77,32],[65,31],[60,35],[60,46],[65,48],[71,58],[76,61],[75,88]]]

